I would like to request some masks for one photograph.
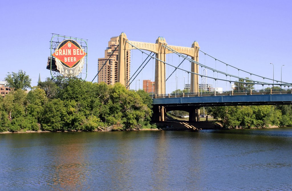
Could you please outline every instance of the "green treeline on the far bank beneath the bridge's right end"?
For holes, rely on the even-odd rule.
[[[291,105],[206,107],[226,128],[292,126]]]

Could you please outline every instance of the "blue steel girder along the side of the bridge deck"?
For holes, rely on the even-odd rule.
[[[292,105],[292,94],[212,95],[154,98],[153,106]]]

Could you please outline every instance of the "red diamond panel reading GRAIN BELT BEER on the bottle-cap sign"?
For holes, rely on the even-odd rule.
[[[72,40],[66,41],[63,41],[65,44],[61,43],[61,47],[58,47],[52,55],[60,60],[65,66],[72,68],[79,63],[86,53],[81,49],[77,42]]]

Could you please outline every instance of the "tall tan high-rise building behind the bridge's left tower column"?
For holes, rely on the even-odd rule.
[[[114,49],[119,44],[119,37],[112,37],[108,42],[108,46],[105,49],[105,57],[98,58],[98,82],[105,82],[108,85],[113,85],[118,81],[118,53],[119,47],[114,51]],[[112,52],[114,53],[112,54]],[[110,57],[110,55],[112,56]],[[131,60],[131,51],[126,51],[126,78],[130,79],[130,60]],[[110,58],[109,58],[110,57]],[[107,61],[107,59],[109,60]],[[107,61],[107,62],[106,62]],[[106,63],[105,63],[106,62]]]

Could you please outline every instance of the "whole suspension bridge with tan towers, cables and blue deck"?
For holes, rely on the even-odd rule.
[[[127,52],[134,49],[147,57],[145,60],[142,59],[142,64],[130,77],[128,75],[130,58]],[[112,51],[106,62],[111,61],[111,56],[115,51],[118,51],[118,78],[116,82],[121,83],[128,89],[150,60],[153,64],[155,61],[155,87],[154,93],[150,95],[153,98],[153,121],[165,121],[166,111],[172,110],[189,112],[189,121],[199,121],[199,108],[204,106],[292,104],[292,91],[290,89],[292,83],[282,81],[282,75],[281,80],[275,80],[274,74],[273,78],[269,78],[239,69],[202,51],[196,41],[192,43],[191,47],[168,45],[163,37],[158,37],[156,43],[130,41],[126,34],[122,32],[117,47]],[[203,54],[204,62],[199,62],[199,53]],[[169,56],[167,61],[167,55],[169,54],[178,56],[177,65],[169,61]],[[184,62],[188,62],[187,67],[183,64]],[[208,64],[209,62],[213,62],[213,64]],[[166,67],[168,72],[166,72]],[[201,68],[201,72],[199,72],[199,68]],[[187,74],[188,88],[183,93],[177,92],[178,71]],[[211,72],[211,75],[207,75],[207,71],[208,73]],[[174,73],[176,74],[175,91],[166,93],[167,81],[171,77],[173,78]],[[166,77],[166,74],[168,74],[168,77]],[[209,81],[210,79],[213,80],[213,91],[206,91],[207,79]],[[186,85],[185,77],[183,80],[183,84]],[[199,88],[199,80],[201,81],[201,88]],[[225,91],[218,91],[218,84],[224,85],[224,82]],[[232,89],[232,84],[237,86],[236,91]],[[260,86],[262,89],[254,90],[255,86]],[[275,86],[277,88],[274,88]],[[282,86],[284,86],[283,89]]]

